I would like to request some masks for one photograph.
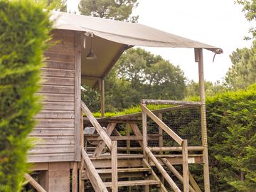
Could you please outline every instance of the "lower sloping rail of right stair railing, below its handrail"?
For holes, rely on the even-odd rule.
[[[169,185],[171,186],[171,188],[175,191],[175,192],[181,192],[181,190],[178,188],[178,186],[176,185],[176,183],[174,182],[174,180],[172,180],[172,178],[169,176],[169,174],[167,174],[167,172],[164,170],[163,166],[161,166],[161,164],[159,163],[159,161],[156,159],[156,157],[154,156],[154,154],[152,154],[152,152],[149,150],[148,147],[145,148],[146,154],[149,156],[149,158],[151,159],[151,161],[153,161],[153,163],[155,164],[156,168],[159,169],[160,173],[164,176],[164,178],[166,179],[166,181],[169,183]]]

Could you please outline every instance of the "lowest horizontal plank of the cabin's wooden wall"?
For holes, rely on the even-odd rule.
[[[28,163],[74,161],[74,153],[64,154],[28,154]]]

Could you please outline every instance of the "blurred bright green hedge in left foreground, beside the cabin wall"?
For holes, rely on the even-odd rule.
[[[33,1],[0,1],[0,191],[21,191],[28,169],[50,27],[48,11]]]

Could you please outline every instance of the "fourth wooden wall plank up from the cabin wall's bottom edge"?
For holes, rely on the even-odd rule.
[[[74,136],[74,128],[43,127],[34,128],[30,136]]]

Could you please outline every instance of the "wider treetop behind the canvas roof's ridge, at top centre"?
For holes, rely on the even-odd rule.
[[[78,9],[86,16],[137,22],[138,16],[131,16],[137,6],[137,0],[81,0]]]

